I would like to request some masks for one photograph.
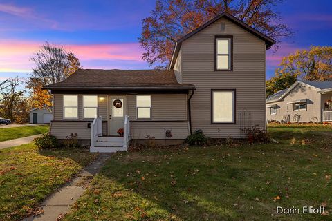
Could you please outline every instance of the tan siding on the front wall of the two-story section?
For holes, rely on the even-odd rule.
[[[221,23],[225,30],[221,31]],[[233,70],[214,71],[216,35],[233,36]],[[203,130],[208,137],[239,137],[239,113],[249,111],[251,123],[265,127],[264,41],[228,21],[220,19],[185,40],[182,48],[183,84],[194,84],[192,131]],[[236,124],[211,124],[211,89],[236,90]]]

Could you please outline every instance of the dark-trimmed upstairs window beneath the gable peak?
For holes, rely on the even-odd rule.
[[[232,70],[232,37],[216,36],[216,70]]]

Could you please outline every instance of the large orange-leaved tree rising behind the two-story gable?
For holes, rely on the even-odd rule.
[[[284,0],[157,0],[156,8],[142,21],[139,37],[146,50],[142,59],[149,66],[165,68],[172,58],[177,39],[192,32],[222,12],[228,12],[277,41],[293,35],[281,22],[273,6]]]

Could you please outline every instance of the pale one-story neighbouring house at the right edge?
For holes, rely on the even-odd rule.
[[[266,115],[277,122],[332,121],[332,81],[296,81],[266,99]]]

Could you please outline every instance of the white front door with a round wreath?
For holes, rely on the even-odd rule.
[[[127,114],[127,97],[125,95],[109,95],[109,135],[119,136],[123,129],[124,116]]]

